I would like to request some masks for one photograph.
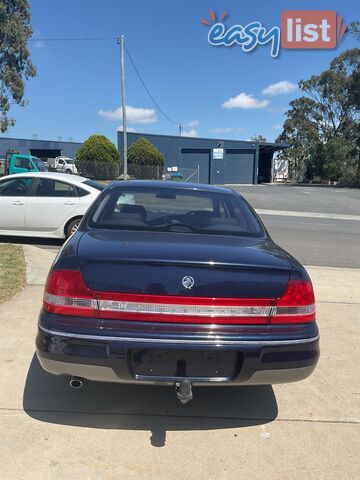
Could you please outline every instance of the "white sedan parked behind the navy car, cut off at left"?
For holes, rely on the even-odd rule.
[[[105,186],[66,173],[0,179],[0,235],[67,238]]]

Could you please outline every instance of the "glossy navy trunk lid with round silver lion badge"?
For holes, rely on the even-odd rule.
[[[291,273],[285,252],[257,237],[91,231],[78,258],[91,290],[184,299],[274,299]]]

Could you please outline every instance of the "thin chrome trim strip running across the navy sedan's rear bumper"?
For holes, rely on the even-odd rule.
[[[190,340],[185,338],[139,338],[139,337],[110,337],[105,335],[86,335],[80,333],[58,332],[50,330],[39,325],[39,329],[50,335],[57,335],[59,337],[67,337],[82,340],[107,340],[111,342],[129,342],[129,343],[167,343],[167,344],[192,344],[192,345],[260,345],[260,346],[276,346],[276,345],[298,345],[302,343],[311,343],[319,340],[320,335],[310,338],[301,338],[295,340],[223,340],[221,338],[206,337],[204,340]]]

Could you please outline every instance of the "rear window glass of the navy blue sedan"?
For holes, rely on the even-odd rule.
[[[119,187],[99,199],[89,217],[94,228],[223,235],[264,234],[237,195],[166,187]]]

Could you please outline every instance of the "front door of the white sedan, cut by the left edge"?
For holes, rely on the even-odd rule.
[[[2,234],[26,230],[25,211],[32,179],[11,177],[0,182],[0,231]]]

